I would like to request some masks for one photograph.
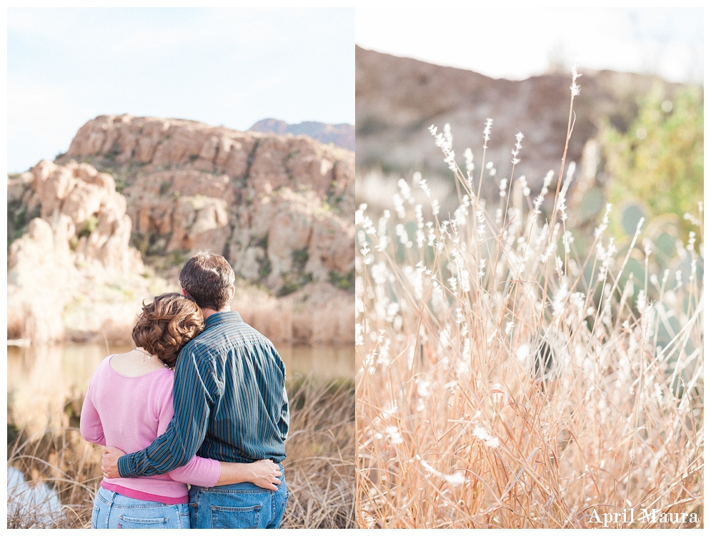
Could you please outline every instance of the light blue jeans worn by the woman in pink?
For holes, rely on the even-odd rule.
[[[91,512],[92,529],[189,529],[188,505],[131,499],[99,487]]]

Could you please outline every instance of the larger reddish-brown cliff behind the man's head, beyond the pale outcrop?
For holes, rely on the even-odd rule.
[[[70,158],[125,176],[134,238],[149,254],[223,253],[238,275],[279,294],[352,278],[352,152],[124,115],[82,126],[61,160]]]

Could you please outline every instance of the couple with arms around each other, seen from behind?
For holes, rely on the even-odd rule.
[[[81,435],[104,445],[91,527],[278,528],[289,495],[284,363],[230,310],[224,257],[193,256],[180,284],[144,305],[136,348],[91,379]]]

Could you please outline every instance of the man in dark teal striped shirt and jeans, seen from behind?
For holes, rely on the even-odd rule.
[[[161,475],[197,452],[225,462],[286,457],[289,405],[284,363],[271,341],[230,310],[234,271],[213,253],[197,253],[180,272],[182,292],[205,318],[204,331],[182,348],[175,368],[174,418],[149,447],[118,457],[104,451],[105,475]],[[287,503],[277,491],[249,482],[190,489],[192,528],[278,528]]]

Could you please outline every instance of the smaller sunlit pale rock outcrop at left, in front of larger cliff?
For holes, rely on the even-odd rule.
[[[111,332],[118,319],[121,328],[134,322],[135,298],[106,296],[107,285],[121,289],[126,280],[130,288],[146,287],[141,256],[129,246],[126,201],[110,175],[75,161],[60,166],[43,160],[9,178],[8,206],[14,208],[9,219],[16,220],[18,211],[23,218],[36,216],[9,248],[8,338],[51,343],[64,340],[68,330]],[[110,306],[99,314],[106,300]],[[67,307],[82,316],[78,323],[66,322]]]

